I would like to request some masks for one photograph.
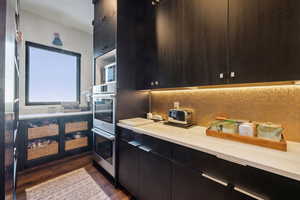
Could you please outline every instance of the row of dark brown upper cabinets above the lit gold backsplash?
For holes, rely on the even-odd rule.
[[[121,47],[136,52],[137,89],[300,79],[299,0],[143,2]]]

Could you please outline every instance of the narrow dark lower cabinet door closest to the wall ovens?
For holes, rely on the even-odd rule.
[[[123,140],[119,141],[119,183],[133,196],[138,193],[138,150]]]

